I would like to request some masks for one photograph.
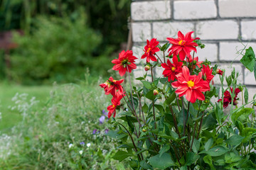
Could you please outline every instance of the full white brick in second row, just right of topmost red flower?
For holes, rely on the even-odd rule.
[[[239,28],[232,20],[201,21],[196,24],[196,33],[202,40],[236,40]]]

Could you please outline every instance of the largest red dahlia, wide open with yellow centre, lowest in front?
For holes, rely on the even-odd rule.
[[[186,66],[182,67],[182,72],[176,75],[178,81],[171,84],[174,88],[177,88],[175,93],[178,97],[186,95],[186,99],[191,103],[195,103],[196,99],[200,101],[205,100],[203,91],[210,91],[210,86],[207,81],[201,79],[202,72],[199,72],[198,76],[190,75],[189,69]]]

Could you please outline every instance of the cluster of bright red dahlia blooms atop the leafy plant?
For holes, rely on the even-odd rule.
[[[169,41],[169,59],[161,61],[156,52],[160,51],[161,47],[159,41],[156,38],[146,40],[146,46],[144,47],[144,54],[142,59],[146,58],[146,66],[144,69],[147,71],[151,68],[150,62],[161,61],[161,67],[164,68],[163,76],[168,78],[171,86],[176,89],[178,97],[186,96],[187,101],[195,103],[196,99],[204,101],[206,98],[203,92],[210,91],[210,83],[213,84],[213,68],[210,68],[208,64],[198,61],[198,57],[194,57],[196,47],[198,44],[196,40],[200,38],[192,38],[193,31],[183,35],[181,31],[178,31],[178,38],[166,38]],[[193,51],[193,56],[191,52]],[[132,72],[132,69],[136,69],[137,65],[134,63],[137,57],[133,55],[132,50],[122,51],[119,53],[119,58],[112,60],[114,64],[113,70],[119,72],[122,77],[126,72]],[[223,74],[220,69],[215,69],[215,74]],[[111,94],[113,96],[112,105],[107,107],[108,118],[111,115],[115,117],[117,108],[120,108],[120,101],[125,96],[124,89],[122,87],[124,79],[114,80],[112,77],[100,84],[105,90],[105,94]],[[158,94],[158,93],[157,93]],[[156,95],[156,93],[154,93]]]

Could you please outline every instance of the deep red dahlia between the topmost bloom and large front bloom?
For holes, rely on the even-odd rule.
[[[170,60],[167,60],[167,64],[161,64],[161,67],[164,68],[163,75],[164,77],[168,77],[168,81],[174,81],[176,79],[176,74],[182,72],[181,67],[183,62],[178,62],[177,57],[173,57],[173,64],[171,64]]]

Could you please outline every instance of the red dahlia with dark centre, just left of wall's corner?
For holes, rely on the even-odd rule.
[[[119,53],[118,59],[112,60],[112,63],[115,64],[112,69],[119,71],[120,76],[124,76],[125,72],[132,72],[132,69],[136,69],[137,66],[134,64],[134,60],[137,57],[133,56],[132,50],[127,50],[126,52],[122,50]]]

